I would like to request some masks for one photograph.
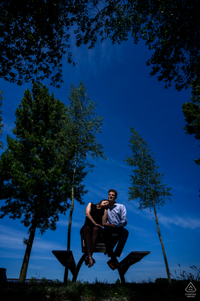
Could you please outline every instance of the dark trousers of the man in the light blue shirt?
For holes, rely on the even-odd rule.
[[[126,230],[123,226],[116,227],[115,229],[112,228],[103,228],[102,231],[103,239],[106,245],[106,251],[108,253],[108,257],[112,259],[116,257],[120,257],[123,248],[125,246],[126,240],[128,238],[128,230]],[[118,234],[119,240],[115,252],[113,252],[112,244],[110,242],[110,235],[111,234]]]

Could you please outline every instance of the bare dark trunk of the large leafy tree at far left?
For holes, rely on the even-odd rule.
[[[35,237],[36,225],[37,225],[37,215],[35,213],[34,216],[33,216],[33,219],[32,219],[32,225],[31,225],[29,240],[28,240],[28,243],[27,243],[27,246],[26,246],[26,252],[25,252],[25,255],[24,255],[23,263],[22,263],[19,282],[24,282],[25,279],[26,279],[26,272],[27,272],[27,268],[28,268],[28,264],[29,264],[29,258],[30,258],[30,254],[31,254],[33,240],[34,240],[34,237]]]

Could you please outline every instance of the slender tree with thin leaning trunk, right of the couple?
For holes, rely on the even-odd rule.
[[[129,141],[131,144],[129,144],[129,146],[131,147],[133,154],[130,157],[127,157],[125,161],[128,165],[135,166],[137,168],[132,170],[134,175],[130,175],[132,186],[128,187],[128,200],[135,200],[139,198],[140,206],[138,209],[154,209],[155,221],[158,229],[156,232],[158,233],[162,245],[168,281],[171,284],[167,257],[156,213],[156,205],[159,209],[160,206],[165,204],[166,199],[170,200],[169,196],[171,196],[171,193],[169,193],[169,190],[171,188],[165,187],[167,184],[162,184],[162,178],[165,172],[162,174],[157,172],[159,167],[154,165],[155,161],[154,158],[152,158],[153,153],[150,153],[151,150],[147,141],[144,141],[133,128],[131,128],[131,133],[131,140]]]

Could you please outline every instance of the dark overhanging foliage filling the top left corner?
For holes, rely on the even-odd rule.
[[[1,1],[0,77],[9,82],[37,82],[51,75],[51,84],[62,83],[63,56],[69,63],[68,14],[73,1]]]

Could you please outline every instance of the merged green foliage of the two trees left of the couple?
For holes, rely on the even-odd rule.
[[[0,218],[9,215],[30,227],[36,212],[36,227],[43,234],[55,230],[59,214],[70,208],[72,186],[74,198],[84,203],[82,181],[94,167],[88,156],[106,159],[96,139],[103,118],[85,92],[82,82],[71,85],[65,107],[45,85],[33,83],[32,93],[26,89],[15,112],[17,138],[7,136],[0,160],[0,195],[5,200]]]

